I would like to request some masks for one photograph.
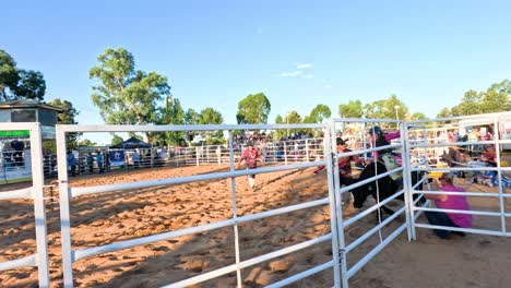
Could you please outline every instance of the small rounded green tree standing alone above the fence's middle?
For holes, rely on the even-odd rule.
[[[265,124],[272,106],[263,93],[250,94],[238,103],[238,124]]]

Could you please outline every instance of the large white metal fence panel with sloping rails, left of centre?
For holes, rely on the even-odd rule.
[[[340,273],[340,254],[338,251],[338,235],[337,235],[337,213],[336,207],[340,205],[335,204],[335,196],[333,193],[333,178],[332,178],[332,165],[326,165],[332,163],[330,146],[325,145],[326,159],[320,161],[311,163],[299,163],[293,165],[282,165],[273,167],[264,167],[258,169],[248,170],[235,170],[235,159],[234,159],[234,148],[229,144],[229,158],[230,158],[230,170],[228,172],[213,172],[206,175],[198,176],[188,176],[188,177],[178,177],[178,178],[167,178],[159,180],[150,180],[150,181],[139,181],[133,183],[120,183],[120,184],[110,184],[110,185],[100,185],[100,187],[86,187],[86,188],[70,188],[68,185],[68,173],[67,173],[67,163],[66,163],[66,134],[73,132],[166,132],[166,131],[212,131],[212,130],[224,130],[228,132],[229,143],[233,143],[231,131],[233,130],[269,130],[269,129],[322,129],[326,135],[326,143],[330,142],[329,128],[325,124],[276,124],[276,125],[162,125],[162,127],[136,127],[136,125],[58,125],[56,135],[57,135],[57,154],[58,154],[58,172],[59,172],[59,190],[60,190],[60,217],[61,217],[61,235],[62,235],[62,263],[63,263],[63,285],[64,287],[73,286],[73,262],[76,262],[84,257],[90,257],[98,255],[102,253],[118,251],[121,249],[128,249],[135,245],[143,245],[153,243],[156,241],[167,240],[179,236],[193,235],[204,231],[210,231],[223,227],[233,227],[235,233],[235,253],[236,253],[236,263],[216,269],[212,272],[204,273],[202,275],[188,278],[178,283],[170,284],[166,287],[187,287],[193,284],[199,284],[207,279],[212,279],[222,275],[226,275],[233,272],[237,274],[237,284],[238,287],[241,287],[241,273],[240,271],[245,267],[255,265],[258,263],[269,261],[292,252],[300,251],[305,248],[311,245],[330,241],[332,245],[332,260],[328,263],[323,263],[316,267],[312,267],[306,272],[296,274],[284,280],[274,283],[271,287],[282,287],[305,277],[308,277],[312,274],[322,272],[324,269],[333,269],[334,275],[334,286],[341,287],[341,273]],[[236,212],[236,185],[235,177],[248,176],[251,173],[268,173],[275,171],[286,171],[294,169],[304,169],[309,167],[317,167],[321,165],[326,165],[329,169],[329,196],[316,201],[310,201],[306,203],[300,203],[296,205],[285,206],[277,209],[266,211],[262,213],[257,213],[252,215],[238,216]],[[158,187],[158,185],[170,185],[178,183],[188,183],[193,181],[202,180],[214,180],[214,179],[229,179],[231,181],[231,208],[233,216],[227,220],[221,220],[207,225],[201,225],[197,227],[190,227],[185,229],[179,229],[175,231],[168,231],[164,233],[124,240],[119,242],[114,242],[105,244],[102,247],[87,248],[81,250],[73,250],[71,243],[71,212],[70,212],[70,200],[73,197],[79,197],[81,195],[103,193],[108,191],[123,191],[123,190],[133,190],[141,188]],[[238,225],[246,221],[252,221],[255,219],[262,219],[270,216],[281,215],[289,212],[295,212],[299,209],[317,207],[317,206],[330,206],[330,216],[331,216],[331,232],[323,235],[319,238],[307,240],[305,242],[287,247],[285,249],[274,251],[254,259],[240,261],[239,252],[239,238],[238,238]]]

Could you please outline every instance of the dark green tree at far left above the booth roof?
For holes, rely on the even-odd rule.
[[[0,49],[0,100],[43,100],[46,82],[39,71],[23,70],[14,59]]]

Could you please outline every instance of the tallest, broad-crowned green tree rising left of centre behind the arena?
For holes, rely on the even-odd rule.
[[[92,100],[107,124],[152,124],[158,121],[157,105],[170,94],[167,77],[135,70],[133,56],[123,48],[106,49],[98,65],[88,71]],[[151,134],[145,133],[151,142]]]

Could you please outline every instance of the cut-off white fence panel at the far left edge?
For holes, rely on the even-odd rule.
[[[43,137],[39,123],[0,123],[0,131],[29,131],[32,155],[32,181],[29,188],[2,192],[0,200],[31,199],[34,201],[37,253],[17,260],[0,263],[0,271],[20,267],[37,267],[39,287],[49,287],[48,242],[44,202]]]

